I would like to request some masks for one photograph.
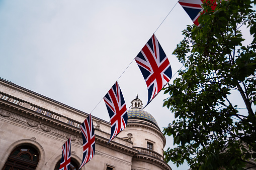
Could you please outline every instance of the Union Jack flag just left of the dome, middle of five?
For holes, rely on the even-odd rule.
[[[107,106],[110,122],[111,122],[111,135],[109,142],[124,128],[127,124],[127,109],[124,102],[124,97],[121,89],[116,82],[109,92],[103,98]],[[109,143],[108,142],[108,143]]]

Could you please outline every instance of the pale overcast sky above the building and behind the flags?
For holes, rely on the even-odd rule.
[[[128,108],[136,94],[146,104],[147,87],[133,59],[176,3],[2,0],[0,77],[87,113],[100,102],[92,115],[109,121],[102,98],[131,62],[118,83]],[[191,24],[177,4],[155,32],[173,75],[182,64],[172,53]],[[174,120],[162,107],[167,97],[161,92],[145,108],[161,129]],[[168,147],[173,140],[166,136],[165,150]]]

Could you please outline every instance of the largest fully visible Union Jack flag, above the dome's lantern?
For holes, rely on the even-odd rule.
[[[154,34],[135,61],[146,81],[149,103],[172,78],[170,63]]]

